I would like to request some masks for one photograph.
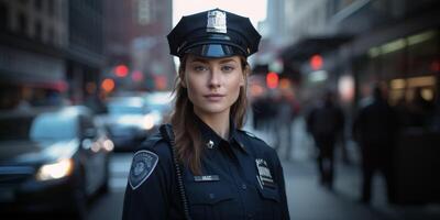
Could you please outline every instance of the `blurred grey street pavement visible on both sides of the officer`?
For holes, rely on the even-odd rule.
[[[311,142],[304,134],[301,120],[295,123],[294,160],[283,161],[286,177],[286,190],[290,218],[299,220],[433,220],[440,219],[439,206],[399,207],[388,206],[382,178],[374,183],[372,206],[358,202],[361,179],[355,165],[354,146],[349,147],[353,164],[338,163],[333,190],[328,190],[318,184],[316,166],[312,160]],[[252,130],[252,128],[245,128]],[[255,131],[253,131],[255,132]],[[271,138],[263,135],[268,143]],[[283,148],[282,148],[283,150]],[[96,198],[89,210],[89,220],[117,220],[122,215],[123,194],[130,168],[130,153],[114,153],[111,160],[111,190]],[[380,176],[378,176],[380,177]]]

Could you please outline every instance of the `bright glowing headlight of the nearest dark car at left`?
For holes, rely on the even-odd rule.
[[[44,182],[63,178],[72,174],[73,169],[74,161],[72,158],[62,160],[54,164],[46,164],[40,167],[38,172],[36,173],[36,179]]]

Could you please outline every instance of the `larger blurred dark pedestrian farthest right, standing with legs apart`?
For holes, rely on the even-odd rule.
[[[354,140],[361,146],[362,197],[371,201],[372,180],[381,172],[386,182],[388,200],[393,199],[393,148],[398,129],[397,116],[384,98],[382,88],[376,85],[373,99],[361,107],[353,123]]]

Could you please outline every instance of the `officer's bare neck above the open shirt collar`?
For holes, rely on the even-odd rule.
[[[221,113],[207,114],[195,111],[195,113],[208,124],[219,136],[224,140],[229,138],[229,111]]]

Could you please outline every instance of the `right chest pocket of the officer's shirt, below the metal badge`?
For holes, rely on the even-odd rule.
[[[279,198],[278,187],[264,187],[256,186],[261,202],[258,202],[258,213],[256,216],[260,219],[282,219],[282,202]]]

